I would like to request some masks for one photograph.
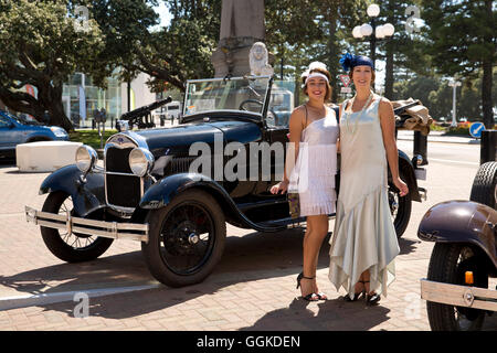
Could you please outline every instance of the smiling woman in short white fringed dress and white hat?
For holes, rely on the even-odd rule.
[[[335,212],[338,124],[335,110],[325,101],[331,96],[330,74],[322,63],[311,63],[303,74],[304,93],[309,97],[289,118],[289,149],[284,180],[272,193],[298,192],[300,216],[306,216],[303,271],[297,277],[305,300],[326,300],[316,282],[319,249],[328,234],[328,214]],[[289,176],[287,176],[289,175]]]

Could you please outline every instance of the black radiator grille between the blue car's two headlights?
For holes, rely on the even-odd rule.
[[[107,202],[120,207],[137,207],[141,199],[141,180],[129,168],[128,157],[133,148],[108,148],[105,154],[105,188]],[[113,172],[129,175],[116,175]]]

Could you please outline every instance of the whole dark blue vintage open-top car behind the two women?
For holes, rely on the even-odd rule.
[[[226,222],[264,233],[305,221],[290,217],[286,194],[269,192],[283,178],[288,142],[272,86],[272,77],[252,76],[188,82],[178,126],[112,136],[103,168],[95,150],[81,147],[75,164],[44,180],[40,193],[49,196],[41,212],[27,207],[27,220],[41,226],[49,249],[65,261],[94,259],[114,239],[127,238],[141,242],[162,284],[202,281],[223,254]],[[404,197],[390,189],[400,236],[411,201],[421,202],[424,192],[416,182],[420,158],[399,154],[410,189]]]

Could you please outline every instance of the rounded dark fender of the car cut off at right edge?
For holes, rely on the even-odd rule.
[[[431,207],[420,222],[417,237],[426,242],[476,245],[497,269],[497,212],[472,201],[446,201]]]

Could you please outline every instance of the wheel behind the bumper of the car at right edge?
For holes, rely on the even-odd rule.
[[[427,279],[444,284],[465,284],[465,272],[474,274],[474,286],[488,287],[488,274],[478,252],[464,244],[436,243],[430,259]],[[482,329],[485,311],[426,302],[430,327],[433,331],[477,331]]]

